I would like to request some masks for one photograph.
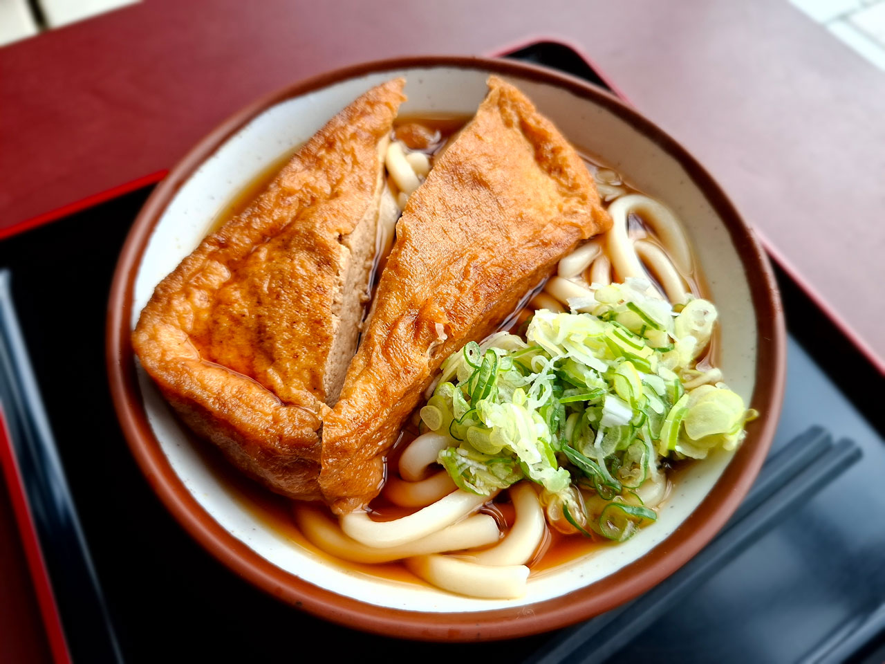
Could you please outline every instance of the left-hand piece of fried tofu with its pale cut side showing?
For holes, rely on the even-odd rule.
[[[403,86],[320,129],[160,282],[133,335],[189,427],[291,498],[322,498],[319,431],[356,351]]]

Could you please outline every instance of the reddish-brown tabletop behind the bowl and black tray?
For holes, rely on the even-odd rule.
[[[306,76],[545,38],[590,53],[708,166],[885,367],[885,75],[784,0],[143,0],[0,49],[0,236],[158,180]]]

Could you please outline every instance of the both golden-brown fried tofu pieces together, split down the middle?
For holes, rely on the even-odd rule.
[[[336,513],[381,490],[384,457],[443,359],[494,331],[612,223],[573,147],[491,77],[397,222],[356,349],[380,149],[403,85],[372,89],[330,120],[160,282],[133,335],[191,429],[270,489]]]

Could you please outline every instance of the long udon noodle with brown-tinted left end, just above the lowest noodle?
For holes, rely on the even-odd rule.
[[[295,519],[304,537],[319,549],[342,560],[367,564],[401,560],[427,553],[473,549],[494,544],[501,537],[494,517],[476,514],[414,542],[376,549],[347,537],[335,521],[313,507],[296,507]]]

